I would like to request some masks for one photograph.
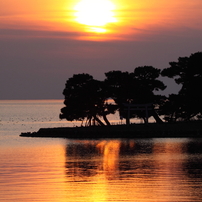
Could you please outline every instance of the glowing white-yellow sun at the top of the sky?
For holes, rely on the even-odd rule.
[[[109,0],[81,0],[74,7],[75,20],[91,32],[106,32],[106,25],[117,22],[115,5]]]

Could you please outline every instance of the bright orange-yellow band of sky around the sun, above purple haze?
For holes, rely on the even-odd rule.
[[[111,38],[137,40],[142,36],[155,35],[162,29],[171,32],[180,31],[186,27],[201,29],[202,1],[200,0],[108,0],[114,5],[112,12],[116,22],[104,26],[107,29],[106,33],[97,34],[76,21],[75,6],[82,1],[85,3],[86,0],[2,1],[0,27],[62,31],[70,33],[68,36],[72,38],[83,39],[85,36],[86,39],[87,36],[89,40],[98,35],[98,40],[103,38],[105,40]],[[96,17],[94,15],[91,17]]]

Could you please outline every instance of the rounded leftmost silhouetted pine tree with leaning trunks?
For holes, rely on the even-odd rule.
[[[102,117],[107,125],[110,124],[106,116],[114,113],[115,107],[106,102],[104,82],[89,74],[77,74],[67,80],[63,94],[66,107],[61,109],[61,119],[83,121],[86,118],[89,125],[92,121],[104,125],[99,119]]]

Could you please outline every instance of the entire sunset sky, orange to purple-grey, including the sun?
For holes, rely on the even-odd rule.
[[[202,51],[201,20],[201,0],[0,0],[0,99],[63,99],[73,74],[166,68]]]

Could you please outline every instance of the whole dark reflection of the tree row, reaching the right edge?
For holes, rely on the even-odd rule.
[[[179,154],[190,155],[176,160]],[[153,159],[166,154],[168,159]],[[200,154],[200,155],[199,155]],[[88,178],[104,174],[108,179],[132,175],[156,177],[156,170],[182,172],[202,179],[202,142],[159,142],[144,140],[80,141],[66,147],[66,173],[69,177]],[[174,158],[174,161],[172,160]],[[166,167],[166,168],[165,168]],[[167,172],[166,171],[166,172]]]

